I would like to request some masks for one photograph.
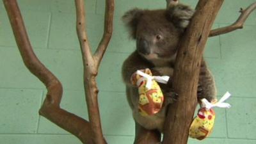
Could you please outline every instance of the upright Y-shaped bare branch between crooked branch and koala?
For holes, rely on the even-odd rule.
[[[99,69],[99,63],[102,60],[102,56],[106,51],[112,35],[114,5],[114,0],[106,0],[104,35],[97,51],[95,52],[95,55],[92,56],[92,52],[88,44],[88,38],[86,36],[84,1],[76,0],[76,28],[83,56],[84,90],[86,95],[90,129],[92,132],[92,140],[93,143],[97,144],[106,144],[106,141],[104,140],[102,134],[102,127],[100,122],[99,104],[97,99],[99,90],[97,88],[96,76]]]

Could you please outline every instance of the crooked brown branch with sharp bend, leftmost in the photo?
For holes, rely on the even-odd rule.
[[[61,83],[57,77],[36,58],[29,42],[26,28],[24,27],[17,1],[3,0],[3,2],[24,64],[47,88],[47,97],[40,109],[40,115],[45,116],[45,118],[51,120],[51,122],[74,134],[83,143],[92,144],[89,123],[83,120],[83,118],[68,113],[60,108],[63,91]]]

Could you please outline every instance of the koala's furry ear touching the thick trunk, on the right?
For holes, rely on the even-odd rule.
[[[177,28],[185,29],[193,17],[195,10],[184,4],[177,4],[167,8],[167,14],[170,20]]]

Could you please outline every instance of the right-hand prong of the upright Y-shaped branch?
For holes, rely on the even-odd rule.
[[[97,68],[99,68],[100,61],[102,60],[102,57],[106,51],[106,48],[108,47],[110,38],[112,36],[114,8],[115,8],[114,0],[106,1],[104,34],[97,48],[97,51],[94,54],[94,59],[95,59]]]

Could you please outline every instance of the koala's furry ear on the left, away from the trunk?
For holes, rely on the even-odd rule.
[[[126,12],[122,17],[123,22],[125,23],[127,28],[129,28],[131,36],[134,39],[136,38],[137,25],[141,18],[141,15],[143,15],[143,10],[134,8]]]

